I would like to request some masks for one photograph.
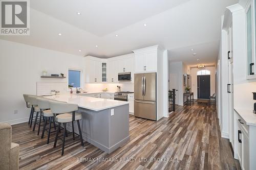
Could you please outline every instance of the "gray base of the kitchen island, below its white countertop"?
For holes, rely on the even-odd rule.
[[[112,109],[114,115],[111,115]],[[82,114],[83,139],[102,151],[111,153],[129,141],[129,104],[100,111],[78,108],[77,112]],[[72,131],[72,125],[67,129]],[[78,132],[77,128],[75,132]]]

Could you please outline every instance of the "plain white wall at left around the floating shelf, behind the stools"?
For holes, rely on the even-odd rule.
[[[68,78],[40,78],[42,70],[68,76],[68,68],[84,70],[84,65],[84,58],[80,56],[0,40],[0,122],[28,120],[30,110],[26,108],[23,94],[36,94],[36,82],[68,81]],[[18,114],[13,114],[14,110],[18,110]]]

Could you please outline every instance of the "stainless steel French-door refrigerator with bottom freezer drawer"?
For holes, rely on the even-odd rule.
[[[157,119],[157,74],[142,73],[134,76],[134,115]]]

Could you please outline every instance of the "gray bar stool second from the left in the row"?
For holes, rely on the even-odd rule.
[[[36,105],[36,107],[33,107],[34,108],[34,112],[36,112],[36,116],[35,116],[35,121],[34,121],[34,126],[33,126],[33,131],[35,131],[35,126],[37,124],[37,119],[38,119],[38,114],[40,113],[40,116],[39,116],[39,122],[38,122],[38,131],[37,131],[37,135],[39,135],[39,132],[40,132],[40,126],[41,126],[41,118],[42,118],[42,113],[41,113],[41,110],[40,108],[38,107],[38,101],[37,99],[38,98],[42,98],[41,96],[36,96],[36,95],[29,95],[29,100],[30,100],[30,103],[32,103],[32,105]],[[32,113],[32,115],[34,114],[34,112]],[[44,119],[44,122],[45,122],[45,118],[43,117]]]

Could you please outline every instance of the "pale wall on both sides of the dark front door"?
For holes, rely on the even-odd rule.
[[[215,91],[215,73],[216,68],[212,67],[205,67],[206,70],[210,71],[210,94],[216,93]],[[191,68],[191,91],[194,92],[194,99],[197,99],[197,72],[201,69],[198,68]]]

